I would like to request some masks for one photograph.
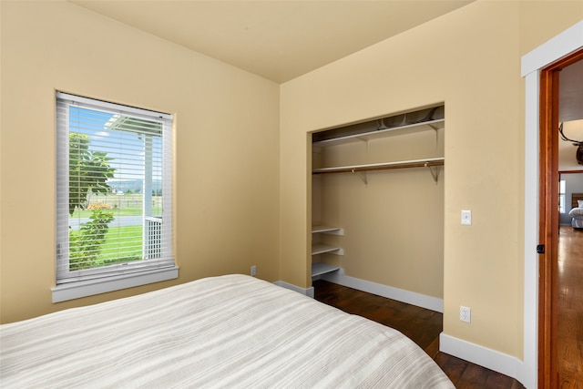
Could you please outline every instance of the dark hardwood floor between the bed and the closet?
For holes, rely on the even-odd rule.
[[[357,291],[322,280],[313,282],[315,298],[320,302],[393,327],[411,338],[429,354],[447,374],[456,388],[517,389],[517,380],[439,352],[439,333],[443,330],[443,314],[404,302]]]

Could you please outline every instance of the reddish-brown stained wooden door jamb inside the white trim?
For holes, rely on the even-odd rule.
[[[566,298],[565,293],[559,293],[559,211],[557,204],[561,199],[559,180],[559,123],[569,119],[583,119],[583,97],[575,98],[575,104],[561,98],[561,72],[566,69],[581,68],[583,64],[583,49],[564,56],[556,62],[543,68],[540,72],[540,185],[539,185],[539,244],[544,245],[544,251],[539,258],[539,314],[538,314],[538,385],[539,387],[558,387],[559,373],[565,363],[562,355],[559,357],[558,334],[559,315],[566,321],[565,312],[559,312],[559,298]],[[568,72],[565,72],[566,74]],[[573,85],[573,84],[567,84]],[[580,84],[575,83],[575,86]],[[583,94],[581,88],[579,95]],[[577,95],[577,94],[576,94]],[[564,96],[564,95],[563,95]],[[577,96],[576,96],[577,97]],[[583,139],[581,139],[583,140]],[[570,200],[568,200],[570,203]],[[565,238],[564,238],[565,239]],[[562,259],[564,260],[564,259]],[[563,261],[561,261],[562,263]],[[565,352],[565,343],[561,343],[561,353]]]

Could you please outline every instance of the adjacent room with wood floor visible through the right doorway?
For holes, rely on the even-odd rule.
[[[563,68],[558,78],[557,360],[560,382],[568,387],[583,382],[583,358],[574,347],[583,319],[583,61]]]

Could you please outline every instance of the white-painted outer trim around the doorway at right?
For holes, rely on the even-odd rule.
[[[540,70],[583,47],[583,20],[538,46],[521,60],[525,97],[525,307],[524,372],[517,379],[537,387],[538,368],[538,141]]]

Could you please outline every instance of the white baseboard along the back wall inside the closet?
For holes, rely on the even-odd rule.
[[[361,280],[344,275],[343,272],[339,271],[322,274],[321,278],[328,282],[334,282],[359,291],[373,293],[377,296],[396,300],[397,302],[406,302],[435,312],[444,312],[444,300],[436,297],[427,296],[417,292],[405,291],[404,289],[394,288],[392,286],[383,285],[382,283]]]

